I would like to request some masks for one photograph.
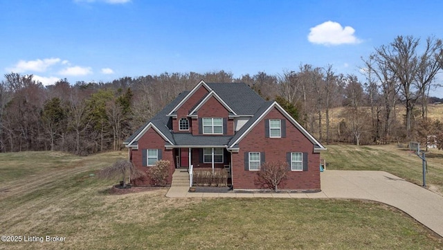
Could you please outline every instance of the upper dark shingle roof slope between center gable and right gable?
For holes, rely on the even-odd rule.
[[[219,95],[238,115],[252,116],[266,100],[261,98],[251,87],[244,83],[208,83],[208,86]]]

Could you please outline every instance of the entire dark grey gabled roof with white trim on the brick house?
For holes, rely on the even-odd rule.
[[[190,133],[172,132],[171,115],[173,115],[181,105],[183,105],[190,96],[192,96],[199,87],[205,87],[207,93],[195,107],[190,110],[192,113],[204,105],[204,102],[210,97],[215,97],[219,102],[228,109],[230,116],[250,116],[251,118],[243,125],[243,127],[235,133],[234,136],[196,136]],[[277,102],[266,101],[260,97],[251,87],[243,83],[208,83],[201,80],[191,91],[183,91],[172,102],[166,105],[159,113],[152,117],[141,126],[132,136],[124,142],[127,147],[137,147],[138,139],[145,134],[151,127],[159,133],[165,141],[167,147],[176,148],[179,146],[201,146],[201,147],[227,147],[235,149],[248,132],[250,132],[257,123],[271,111],[271,109],[278,109],[303,135],[311,141],[314,145],[314,150],[325,150],[326,148],[319,143],[314,136],[309,134],[304,127],[302,127],[295,119],[293,119],[287,111],[285,111]]]

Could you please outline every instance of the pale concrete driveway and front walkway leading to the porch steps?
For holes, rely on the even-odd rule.
[[[326,170],[319,193],[188,193],[170,188],[167,197],[278,197],[370,199],[395,206],[443,237],[443,197],[383,171]]]

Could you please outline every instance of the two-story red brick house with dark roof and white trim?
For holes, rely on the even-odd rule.
[[[320,190],[320,152],[326,148],[275,101],[243,83],[199,82],[180,93],[125,141],[141,170],[159,160],[175,168],[226,168],[234,190],[264,188],[257,171],[287,161],[284,190]],[[149,185],[150,179],[138,179]]]

